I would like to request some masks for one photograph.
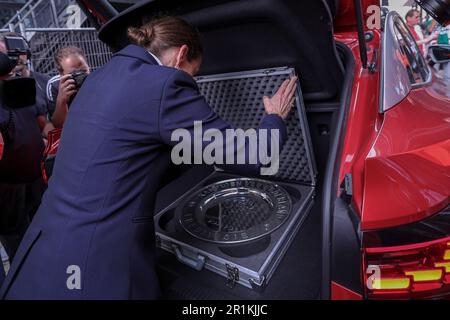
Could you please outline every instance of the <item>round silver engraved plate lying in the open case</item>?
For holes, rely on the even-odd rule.
[[[272,233],[289,218],[289,194],[279,185],[237,178],[206,186],[178,208],[192,236],[214,243],[243,243]]]

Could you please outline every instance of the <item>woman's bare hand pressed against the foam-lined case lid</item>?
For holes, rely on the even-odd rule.
[[[285,80],[272,98],[264,97],[264,108],[268,114],[277,114],[286,119],[294,106],[297,77]]]

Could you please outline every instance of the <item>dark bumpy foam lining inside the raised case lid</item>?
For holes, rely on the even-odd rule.
[[[260,124],[265,114],[263,97],[271,97],[293,74],[290,68],[256,70],[199,77],[197,83],[208,104],[222,119],[246,130]],[[300,89],[296,97],[296,108],[285,121],[288,138],[281,150],[278,174],[273,178],[314,185],[315,164]]]

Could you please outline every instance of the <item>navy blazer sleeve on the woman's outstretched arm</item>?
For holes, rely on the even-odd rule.
[[[262,103],[262,101],[261,101]],[[176,129],[186,129],[192,137],[193,144],[194,137],[194,122],[202,122],[202,132],[208,129],[220,130],[223,136],[226,136],[227,129],[235,129],[229,123],[221,119],[213,109],[207,104],[205,98],[200,94],[197,84],[194,79],[183,71],[175,71],[165,83],[163,94],[161,97],[160,113],[159,113],[159,132],[163,143],[170,146],[178,144],[178,141],[172,140],[172,133]],[[236,128],[237,129],[237,128]],[[260,125],[256,129],[258,137],[258,146],[264,143],[270,150],[271,146],[271,130],[278,129],[279,132],[279,150],[286,142],[287,130],[283,119],[275,114],[265,115],[261,120]],[[267,135],[260,135],[259,132],[266,129]],[[260,141],[260,137],[266,137],[266,141]],[[210,142],[202,142],[203,149]],[[193,147],[193,146],[192,146]],[[226,153],[234,153],[235,157],[238,151],[243,152],[242,146],[238,150],[235,144],[234,150],[225,150],[223,146],[223,163],[225,163]],[[249,164],[250,152],[255,152],[255,149],[250,148],[248,141],[245,143],[245,165],[219,165],[228,171],[245,174],[257,174],[261,168],[260,159],[256,164]]]

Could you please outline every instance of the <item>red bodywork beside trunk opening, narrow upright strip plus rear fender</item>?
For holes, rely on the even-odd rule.
[[[379,31],[368,43],[369,61]],[[444,83],[413,89],[386,113],[378,112],[380,72],[361,66],[357,34],[335,35],[353,51],[356,68],[341,158],[340,181],[352,175],[361,229],[422,220],[445,208],[450,195],[450,99]],[[379,69],[379,68],[378,68]]]

